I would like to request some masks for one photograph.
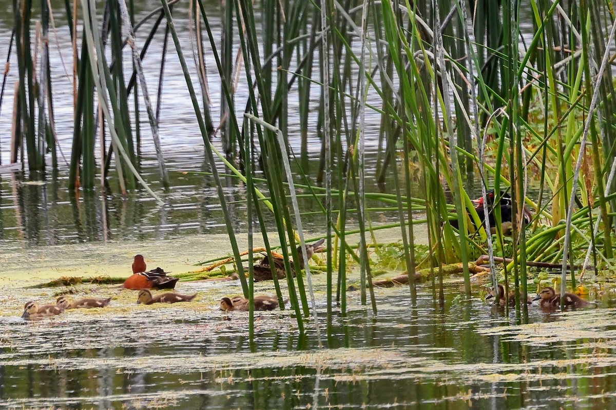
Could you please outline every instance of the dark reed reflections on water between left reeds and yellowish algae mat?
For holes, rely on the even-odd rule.
[[[60,243],[97,242],[102,240],[172,239],[183,234],[226,233],[216,184],[208,175],[209,165],[200,159],[187,162],[184,156],[169,160],[171,187],[163,191],[156,179],[153,189],[168,204],[159,207],[146,193],[136,191],[124,197],[113,179],[109,187],[73,194],[66,188],[68,174],[60,170],[41,181],[28,181],[23,173],[12,172],[0,178],[0,239],[25,240],[29,245],[57,245]],[[376,154],[367,157],[376,160]],[[312,158],[318,162],[317,158]],[[155,165],[144,159],[146,179],[158,178]],[[203,174],[184,173],[199,170]],[[219,169],[224,171],[224,169]],[[6,175],[6,174],[5,174]],[[237,178],[224,177],[227,210],[232,216],[233,229],[246,231],[245,187]],[[265,183],[258,186],[267,195]],[[376,189],[370,177],[367,189]],[[300,192],[302,192],[300,190]],[[303,192],[309,194],[309,191]],[[302,210],[317,210],[312,197],[301,197]],[[382,206],[368,201],[368,207]],[[253,213],[254,215],[254,213]],[[264,211],[265,226],[275,230],[274,216]],[[397,221],[395,212],[378,211],[371,215],[379,222]],[[347,226],[354,226],[354,213],[349,212]],[[323,215],[311,214],[302,218],[307,230],[325,225]],[[257,231],[259,227],[255,228]]]

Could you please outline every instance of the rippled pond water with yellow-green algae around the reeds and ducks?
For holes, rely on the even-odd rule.
[[[72,85],[59,68],[62,60],[56,44],[68,64],[70,42],[60,12],[63,4],[52,4],[58,26],[50,49],[52,66],[58,68],[56,128],[68,156],[73,111],[66,101],[72,101]],[[137,12],[143,17],[158,4],[141,2]],[[4,2],[6,10],[11,7]],[[206,7],[208,14],[219,14],[219,2],[208,1]],[[12,14],[4,16],[0,56],[6,55],[12,25]],[[180,39],[186,42],[186,8],[176,7],[176,17]],[[217,19],[211,22],[214,35],[220,36]],[[140,39],[143,36],[139,33]],[[153,42],[144,61],[151,93],[158,85],[161,43]],[[209,72],[215,73],[213,60],[207,63]],[[190,58],[188,64],[193,64]],[[194,269],[196,262],[228,253],[213,179],[183,173],[207,171],[209,165],[203,160],[203,141],[184,79],[172,67],[177,61],[169,53],[160,123],[172,179],[169,190],[157,182],[146,124],[142,124],[146,126],[140,163],[144,178],[170,207],[158,207],[143,192],[123,197],[113,178],[111,192],[71,195],[65,165],[57,175],[50,173],[34,183],[20,172],[0,175],[0,408],[616,408],[616,306],[609,294],[578,312],[546,313],[532,306],[530,323],[524,325],[514,312],[507,314],[484,302],[482,283],[474,283],[474,298],[468,302],[458,301],[460,283],[448,283],[443,308],[434,303],[430,285],[419,286],[415,309],[404,286],[376,290],[376,316],[360,304],[357,292],[350,292],[347,317],[334,313],[328,329],[325,278],[317,275],[323,349],[318,347],[314,323],[309,320],[306,336],[300,337],[290,310],[257,313],[255,343],[250,345],[248,313],[234,312],[224,320],[217,310],[222,296],[238,293],[237,282],[182,282],[177,286],[180,293],[198,292],[198,297],[176,306],[137,306],[134,292],[82,285],[73,298],[113,296],[111,306],[22,320],[26,301],[54,299],[55,290],[25,287],[43,279],[126,276],[127,261],[136,253],[146,254],[148,265],[173,272]],[[15,72],[9,74],[9,85]],[[210,87],[212,95],[219,93],[216,81]],[[240,83],[238,106],[245,98]],[[318,93],[312,98],[315,107]],[[0,113],[2,164],[8,156],[11,107],[8,92]],[[219,101],[213,98],[213,111],[217,110]],[[290,111],[289,137],[297,150],[298,101],[293,98]],[[315,122],[316,115],[313,111],[310,120]],[[374,112],[367,115],[367,191],[376,192],[380,117]],[[309,137],[307,162],[302,166],[314,175],[320,143],[315,134]],[[234,228],[241,234],[246,231],[243,187],[232,178],[226,186]],[[422,196],[421,190],[413,192]],[[304,211],[316,208],[313,199],[301,201]],[[391,211],[370,216],[378,223],[397,220]],[[272,221],[267,223],[272,226]],[[306,231],[322,234],[322,216],[306,215],[303,223]],[[355,223],[349,214],[347,226]],[[384,239],[394,242],[399,234]],[[240,235],[240,247],[245,246],[245,234]],[[274,290],[271,283],[259,283],[256,292]]]

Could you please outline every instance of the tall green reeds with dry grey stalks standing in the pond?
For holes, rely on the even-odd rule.
[[[175,28],[174,10],[180,7],[190,10],[187,44],[180,42]],[[268,235],[281,244],[286,283],[275,280],[275,289],[281,304],[283,293],[288,294],[302,333],[304,319],[312,314],[318,329],[318,317],[308,264],[305,277],[294,278],[290,261],[299,272],[296,247],[306,244],[302,219],[309,211],[326,221],[329,323],[334,309],[346,315],[349,258],[359,263],[362,303],[370,303],[374,313],[378,309],[368,248],[374,242],[371,232],[379,226],[370,220],[376,207],[367,200],[397,215],[405,269],[437,271],[434,286],[441,304],[441,264],[462,262],[469,298],[468,262],[480,254],[489,255],[492,282],[505,283],[522,300],[529,293],[527,261],[562,263],[561,292],[567,283],[574,287],[589,269],[591,254],[595,274],[614,268],[616,133],[610,119],[616,99],[609,45],[616,25],[609,7],[586,0],[263,0],[255,7],[251,1],[230,0],[213,16],[203,0],[161,0],[160,7],[137,16],[132,0],[67,2],[75,85],[68,188],[91,190],[97,177],[105,186],[113,171],[123,193],[142,187],[158,199],[138,171],[144,130],[137,113],[144,101],[160,179],[168,186],[158,121],[164,109],[160,96],[166,55],[176,53],[209,164],[223,162],[245,184],[249,248],[253,224],[268,255]],[[9,53],[16,53],[18,81],[13,109],[1,112],[7,116],[12,111],[12,161],[17,162],[20,152],[31,178],[60,166],[50,97],[51,70],[56,68],[49,65],[47,50],[53,11],[46,1],[40,9],[31,2],[14,2],[15,47]],[[532,21],[532,30],[521,30],[522,16]],[[214,18],[220,20],[222,38],[213,31]],[[140,44],[135,33],[147,26],[149,34]],[[164,41],[156,106],[142,68],[153,41]],[[130,53],[123,52],[126,47]],[[193,72],[186,63],[190,57]],[[206,71],[206,59],[215,62],[216,72]],[[128,66],[131,76],[126,76]],[[210,82],[221,84],[219,112],[212,107]],[[248,87],[246,101],[235,95],[240,82]],[[320,102],[310,106],[317,89]],[[2,95],[6,90],[10,87],[3,82]],[[371,95],[378,96],[378,104]],[[134,98],[133,117],[129,98]],[[299,130],[289,127],[290,98],[299,99]],[[0,109],[1,103],[0,97]],[[236,116],[237,107],[244,109],[243,117]],[[316,124],[310,120],[314,110]],[[378,113],[379,135],[368,135],[367,111]],[[300,135],[299,156],[290,133]],[[322,158],[312,174],[302,162],[310,134],[320,139]],[[376,170],[365,164],[369,138],[379,140]],[[110,170],[112,157],[115,170]],[[291,173],[291,165],[299,173]],[[266,178],[257,178],[257,170]],[[375,172],[380,181],[391,175],[394,183],[384,192],[367,192],[367,172]],[[215,166],[211,173],[243,293],[252,298],[253,269],[249,267],[246,278],[224,179]],[[531,174],[540,176],[536,197],[528,194]],[[490,190],[497,198],[501,192],[511,197],[510,236],[503,232],[499,207],[494,209],[495,226],[482,223],[490,212]],[[484,207],[471,201],[479,191]],[[301,195],[314,197],[320,208],[301,209]],[[532,210],[529,224],[522,223],[523,207]],[[270,212],[275,232],[265,229],[264,213]],[[357,231],[347,227],[351,214],[359,221]],[[425,258],[416,255],[416,224],[428,226]],[[347,240],[350,232],[359,233],[356,248]],[[513,260],[497,268],[494,256]],[[580,270],[567,269],[578,262]],[[413,306],[414,278],[409,275],[408,282]],[[522,306],[517,313],[526,317]]]

